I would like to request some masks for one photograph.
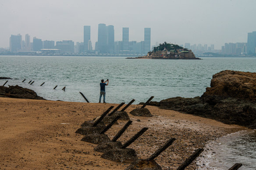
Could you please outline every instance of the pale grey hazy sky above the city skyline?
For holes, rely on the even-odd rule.
[[[151,28],[151,45],[247,42],[256,31],[256,0],[0,0],[0,47],[11,34],[42,40],[83,42],[83,26],[91,25],[97,41],[98,24],[114,25],[115,41],[129,27],[129,41],[143,41]]]

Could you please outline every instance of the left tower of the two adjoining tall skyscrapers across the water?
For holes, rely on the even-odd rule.
[[[98,52],[107,53],[107,28],[106,24],[98,25]]]

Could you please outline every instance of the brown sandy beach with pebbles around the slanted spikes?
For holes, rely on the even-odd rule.
[[[0,169],[125,169],[128,163],[100,158],[95,144],[81,141],[75,131],[85,120],[100,116],[111,105],[39,101],[0,97]],[[128,113],[138,105],[131,105]],[[245,129],[177,111],[146,106],[153,117],[129,114],[132,125],[118,141],[124,143],[141,128],[149,129],[128,148],[147,158],[168,139],[176,141],[155,160],[163,169],[176,169],[195,149],[212,139]],[[140,119],[140,121],[137,121]],[[127,121],[106,132],[110,139]],[[192,163],[187,169],[195,169]]]

